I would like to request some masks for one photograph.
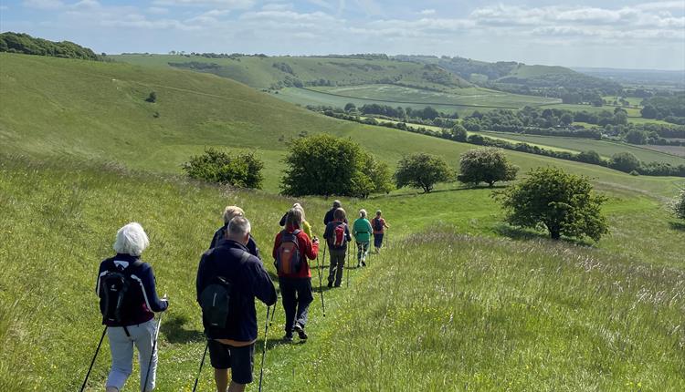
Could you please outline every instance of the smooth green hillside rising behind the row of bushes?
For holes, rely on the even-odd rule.
[[[179,173],[206,147],[256,149],[265,189],[277,191],[288,140],[302,134],[349,137],[392,166],[427,151],[457,166],[472,145],[330,119],[232,80],[174,69],[0,54],[0,152],[36,158],[115,161]],[[157,102],[145,102],[151,91]],[[159,117],[155,118],[155,113]],[[557,165],[598,182],[672,195],[681,181],[635,178],[564,160],[507,152],[522,170]]]

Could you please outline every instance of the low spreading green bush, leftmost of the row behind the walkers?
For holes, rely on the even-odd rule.
[[[224,151],[207,149],[203,155],[190,158],[183,165],[191,179],[232,185],[238,188],[261,189],[264,176],[264,162],[252,152],[228,154]]]

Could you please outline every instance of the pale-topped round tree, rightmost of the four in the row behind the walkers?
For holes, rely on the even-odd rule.
[[[486,147],[461,154],[457,180],[477,185],[485,182],[492,187],[497,181],[513,181],[519,168],[513,166],[504,151]]]

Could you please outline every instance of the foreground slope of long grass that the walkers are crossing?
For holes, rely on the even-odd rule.
[[[349,289],[325,293],[325,318],[316,296],[305,345],[276,341],[279,307],[265,390],[682,389],[685,234],[653,198],[606,191],[613,234],[598,249],[494,238],[501,216],[490,190],[343,201],[348,211],[385,211],[389,248],[350,272]],[[13,391],[79,387],[101,330],[97,267],[130,221],[150,234],[143,257],[171,297],[158,390],[190,390],[204,348],[195,270],[222,207],[245,208],[273,272],[271,240],[292,203],[111,165],[10,157],[0,160],[0,198],[0,390]],[[303,204],[321,232],[329,202]],[[89,390],[101,390],[108,364],[105,343]],[[200,390],[212,390],[209,368],[202,379]]]

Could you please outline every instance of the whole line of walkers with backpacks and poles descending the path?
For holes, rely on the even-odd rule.
[[[245,212],[237,206],[228,206],[223,218],[224,225],[215,232],[209,250],[202,255],[198,265],[195,290],[197,303],[202,308],[207,339],[205,355],[208,351],[216,390],[234,392],[245,390],[253,381],[258,335],[255,299],[272,306],[278,302],[279,293],[264,268]],[[326,249],[330,254],[329,288],[340,287],[342,283],[345,258],[352,239],[357,247],[357,267],[366,266],[372,237],[375,253],[379,253],[385,229],[390,227],[381,211],[376,211],[375,218],[369,221],[367,212],[360,210],[351,232],[340,201],[333,201],[323,223],[323,239],[327,244],[323,258]],[[291,342],[294,334],[300,341],[306,341],[309,337],[305,331],[309,306],[314,300],[310,261],[317,260],[319,269],[319,239],[312,235],[311,224],[306,221],[299,203],[283,215],[279,224],[283,229],[276,235],[271,255],[285,312],[283,341]],[[169,301],[166,295],[163,298],[158,296],[153,269],[141,260],[141,254],[149,243],[142,226],[136,222],[129,223],[117,232],[113,246],[116,255],[100,263],[96,293],[100,297],[102,324],[105,325],[100,345],[106,332],[111,347],[111,371],[106,392],[121,391],[131,376],[134,346],[139,353],[142,392],[155,387],[156,340],[161,316],[160,321],[154,323],[154,313],[165,311]],[[269,308],[267,319],[269,322]],[[86,386],[90,369],[81,390]]]

